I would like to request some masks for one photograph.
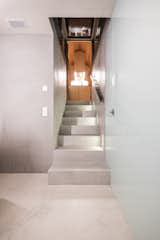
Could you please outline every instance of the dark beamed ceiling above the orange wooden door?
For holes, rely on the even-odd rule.
[[[67,59],[67,42],[88,41],[92,43],[92,60],[94,60],[103,28],[109,21],[110,18],[50,18],[65,59]]]

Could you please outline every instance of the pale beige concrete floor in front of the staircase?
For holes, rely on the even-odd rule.
[[[0,174],[0,240],[131,240],[110,187],[48,186],[47,174]]]

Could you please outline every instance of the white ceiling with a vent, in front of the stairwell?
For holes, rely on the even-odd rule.
[[[114,0],[0,0],[0,34],[51,34],[49,17],[111,17]],[[8,20],[24,19],[13,28]],[[20,24],[23,25],[23,24]]]

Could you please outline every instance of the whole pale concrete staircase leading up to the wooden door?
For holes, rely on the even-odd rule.
[[[110,183],[93,105],[67,103],[48,181],[55,185]]]

